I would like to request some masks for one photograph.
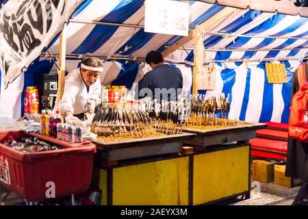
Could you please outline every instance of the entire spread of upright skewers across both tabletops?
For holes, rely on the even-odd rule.
[[[229,124],[230,96],[192,96],[191,101],[142,99],[139,104],[104,103],[92,120],[91,131],[98,136],[144,138],[182,133],[183,125],[219,126]],[[218,112],[221,118],[217,117]]]

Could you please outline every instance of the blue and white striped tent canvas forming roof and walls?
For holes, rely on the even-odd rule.
[[[220,5],[190,1],[190,29],[226,9]],[[88,0],[71,19],[67,25],[67,70],[79,66],[80,55],[129,57],[131,62],[107,62],[105,68],[106,84],[125,84],[128,88],[143,75],[140,64],[133,62],[134,59],[144,58],[151,50],[164,51],[183,38],[144,32],[144,0]],[[122,23],[140,27],[76,21]],[[290,81],[300,60],[308,53],[308,18],[234,9],[230,16],[220,19],[207,31],[210,33],[204,36],[207,49],[205,62],[216,62],[217,73],[216,90],[207,94],[231,94],[231,118],[287,123]],[[220,36],[222,34],[227,35]],[[59,53],[59,41],[57,37],[49,45],[48,51],[52,55]],[[184,72],[188,87],[192,81],[192,68],[189,64],[193,60],[193,51],[190,50],[193,45],[193,40],[189,40],[183,44],[184,49],[179,48],[166,57],[166,60],[177,64]],[[288,83],[268,84],[264,60],[269,59],[285,62]],[[257,62],[243,63],[242,60]],[[1,83],[0,116],[21,116],[24,88],[34,83],[34,75],[54,70],[53,63],[40,57],[8,89],[4,90]]]

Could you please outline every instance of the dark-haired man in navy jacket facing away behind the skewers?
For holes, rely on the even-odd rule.
[[[179,68],[164,64],[159,51],[146,55],[146,63],[153,70],[146,73],[138,83],[138,99],[150,97],[157,101],[177,101],[183,88],[183,77]]]

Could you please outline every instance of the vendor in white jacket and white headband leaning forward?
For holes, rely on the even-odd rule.
[[[66,123],[79,126],[86,112],[94,113],[96,105],[101,101],[101,72],[103,62],[94,57],[86,57],[81,62],[81,68],[65,77],[60,110]]]

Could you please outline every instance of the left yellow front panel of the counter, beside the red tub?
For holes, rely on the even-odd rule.
[[[188,205],[189,157],[112,168],[112,188],[107,171],[101,170],[101,205]],[[107,192],[106,192],[107,190]],[[104,192],[105,191],[105,192]]]

